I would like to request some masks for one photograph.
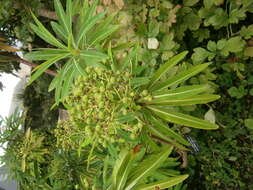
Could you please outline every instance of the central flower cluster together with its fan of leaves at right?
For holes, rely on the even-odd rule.
[[[193,66],[177,75],[161,80],[166,72],[179,63],[187,54],[182,52],[163,64],[152,76],[137,74],[136,62],[129,61],[120,66],[111,64],[111,69],[86,68],[86,76],[79,77],[66,99],[69,119],[58,125],[56,134],[68,128],[75,144],[77,139],[91,139],[93,145],[106,147],[110,143],[129,144],[137,137],[152,134],[185,149],[189,145],[182,136],[170,129],[166,122],[199,129],[217,129],[218,126],[199,118],[178,113],[175,106],[205,104],[219,98],[205,94],[206,85],[178,86],[190,77],[203,71],[208,64]],[[115,69],[117,68],[117,69]],[[73,129],[74,128],[74,129]],[[78,138],[78,134],[79,138]],[[65,135],[64,135],[65,136]],[[58,136],[61,139],[61,136]]]

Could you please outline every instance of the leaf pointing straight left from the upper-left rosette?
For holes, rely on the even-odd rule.
[[[24,58],[33,60],[33,61],[41,61],[52,59],[53,57],[60,56],[62,54],[68,53],[67,50],[63,49],[41,49],[38,51],[33,51],[25,54]]]

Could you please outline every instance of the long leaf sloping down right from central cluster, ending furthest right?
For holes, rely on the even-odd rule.
[[[198,119],[186,114],[169,111],[158,106],[147,106],[151,111],[154,112],[158,117],[165,121],[176,123],[187,127],[193,127],[198,129],[212,130],[217,129],[218,126],[208,121]]]

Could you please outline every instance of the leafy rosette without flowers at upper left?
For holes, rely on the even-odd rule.
[[[118,26],[111,24],[113,15],[103,19],[106,11],[96,14],[97,3],[98,0],[89,6],[85,0],[80,6],[74,7],[72,0],[67,0],[64,11],[60,0],[54,0],[58,22],[51,22],[51,26],[56,36],[32,14],[36,23],[31,24],[32,30],[53,47],[26,54],[25,57],[33,61],[45,60],[35,68],[29,84],[50,66],[61,62],[63,65],[49,87],[50,91],[55,89],[57,104],[68,95],[74,79],[86,74],[84,68],[87,65],[104,67],[101,61],[108,57],[103,53],[101,44]]]

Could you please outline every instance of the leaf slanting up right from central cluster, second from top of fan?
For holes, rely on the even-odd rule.
[[[163,88],[168,88],[170,86],[179,84],[181,82],[184,82],[185,80],[189,79],[190,77],[198,74],[199,72],[203,71],[208,67],[210,63],[205,63],[197,66],[193,66],[192,68],[188,69],[187,71],[184,71],[182,73],[179,73],[178,75],[169,78],[168,80],[158,83],[155,86],[151,88],[152,91],[161,90]]]

